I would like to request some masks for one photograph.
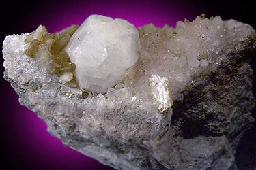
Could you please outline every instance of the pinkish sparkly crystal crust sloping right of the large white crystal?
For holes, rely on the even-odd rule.
[[[137,96],[147,99],[152,75],[169,78],[173,100],[199,76],[207,75],[227,60],[227,54],[244,49],[248,35],[255,33],[248,24],[221,17],[197,16],[193,22],[178,21],[176,28],[146,24],[138,28],[141,40],[140,69],[132,82]]]

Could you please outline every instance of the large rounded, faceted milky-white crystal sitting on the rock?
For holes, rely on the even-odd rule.
[[[137,62],[140,47],[133,24],[92,15],[72,35],[66,52],[76,65],[79,87],[105,93],[125,76],[133,76],[136,71],[128,68]]]

